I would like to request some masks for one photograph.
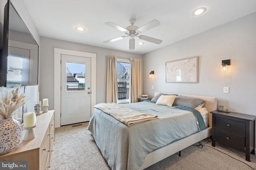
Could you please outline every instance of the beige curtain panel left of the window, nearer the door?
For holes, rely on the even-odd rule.
[[[106,102],[117,103],[116,56],[108,55]]]

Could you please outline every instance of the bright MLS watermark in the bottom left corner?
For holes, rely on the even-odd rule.
[[[1,170],[28,170],[28,161],[0,161]]]

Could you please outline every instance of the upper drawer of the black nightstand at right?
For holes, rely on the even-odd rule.
[[[216,116],[215,127],[218,129],[222,129],[225,131],[245,136],[245,123],[241,121],[235,121]]]

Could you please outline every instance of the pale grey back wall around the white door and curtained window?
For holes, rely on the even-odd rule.
[[[96,103],[106,102],[106,75],[107,75],[107,56],[116,55],[118,57],[139,58],[142,55],[94,47],[79,43],[72,43],[58,39],[41,37],[40,53],[40,96],[49,99],[48,109],[54,109],[54,48],[96,53]],[[143,62],[141,62],[143,63]],[[143,64],[142,64],[143,66]],[[142,67],[141,66],[141,67]],[[95,87],[91,87],[95,88]],[[40,97],[41,98],[41,97]]]

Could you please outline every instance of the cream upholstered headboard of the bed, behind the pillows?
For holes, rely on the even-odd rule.
[[[177,93],[166,93],[166,92],[155,92],[155,96],[159,93],[164,94],[177,94]],[[217,98],[216,97],[209,97],[209,96],[196,96],[196,95],[190,95],[190,94],[178,94],[182,96],[188,96],[191,98],[200,98],[202,100],[205,100],[204,106],[208,110],[208,124],[211,127],[212,126],[212,113],[210,111],[214,111],[217,109]]]

